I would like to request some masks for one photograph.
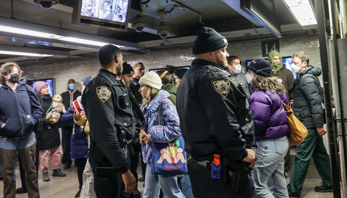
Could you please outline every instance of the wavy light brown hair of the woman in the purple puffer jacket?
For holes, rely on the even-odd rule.
[[[270,90],[271,92],[279,94],[286,93],[286,87],[278,80],[278,77],[265,77],[255,74],[251,81],[252,91]]]

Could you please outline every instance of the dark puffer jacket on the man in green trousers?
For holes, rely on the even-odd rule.
[[[323,126],[323,88],[317,78],[322,71],[313,65],[298,73],[294,81],[294,114],[308,129]]]

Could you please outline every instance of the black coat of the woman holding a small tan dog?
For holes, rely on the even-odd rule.
[[[43,100],[43,113],[41,121],[43,123],[44,129],[41,133],[41,136],[38,137],[37,141],[40,143],[37,144],[37,149],[39,150],[49,150],[50,148],[55,148],[60,146],[60,135],[59,135],[59,123],[50,125],[51,122],[49,119],[46,119],[46,112],[52,104],[52,98],[49,95],[41,95]],[[51,126],[48,129],[48,126]]]

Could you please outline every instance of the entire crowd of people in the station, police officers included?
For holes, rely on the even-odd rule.
[[[75,197],[82,198],[138,198],[138,181],[144,181],[144,198],[300,197],[311,157],[323,181],[314,190],[332,192],[322,139],[327,131],[317,78],[320,68],[309,65],[306,53],[296,52],[291,65],[297,73],[294,79],[279,52],[271,51],[268,61],[254,59],[244,74],[240,59],[229,56],[227,46],[225,37],[204,27],[197,33],[196,59],[189,70],[167,66],[145,73],[143,63],[131,66],[123,62],[118,47],[105,45],[98,52],[101,68],[94,77],[82,79],[82,93],[74,79],[68,80],[67,91],[61,94],[65,113],[52,106],[46,82],[33,84],[30,77],[22,77],[18,64],[3,64],[4,198],[26,192],[29,198],[40,197],[37,172],[40,164],[42,180],[50,181],[49,159],[53,177],[65,177],[60,163],[68,169],[74,159],[79,182]],[[283,103],[293,107],[308,129],[296,148],[288,185],[290,142]],[[51,110],[61,118],[46,119]],[[188,172],[154,174],[154,143],[171,143],[181,136]],[[22,181],[18,189],[17,154]],[[137,173],[139,155],[142,178]]]

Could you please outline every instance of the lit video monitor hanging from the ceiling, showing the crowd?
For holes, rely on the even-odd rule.
[[[126,32],[131,0],[78,0],[71,23]]]

